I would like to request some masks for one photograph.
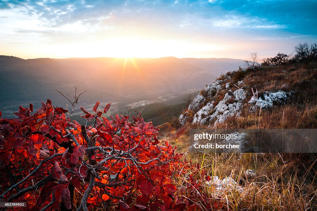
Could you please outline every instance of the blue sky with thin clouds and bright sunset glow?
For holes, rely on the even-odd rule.
[[[317,1],[0,0],[0,55],[261,58],[317,42]]]

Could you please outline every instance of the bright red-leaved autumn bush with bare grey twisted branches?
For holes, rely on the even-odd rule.
[[[0,200],[26,201],[31,210],[183,210],[171,180],[183,166],[176,147],[158,145],[159,129],[141,113],[133,122],[118,114],[109,120],[102,114],[110,104],[98,106],[81,108],[89,126],[50,100],[36,112],[30,104],[17,118],[1,118]]]

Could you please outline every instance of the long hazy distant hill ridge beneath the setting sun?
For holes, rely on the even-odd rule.
[[[243,66],[237,59],[69,58],[21,59],[0,56],[0,110],[51,99],[66,101],[55,89],[73,93],[86,90],[82,103],[159,100],[189,89],[200,90],[222,73]],[[65,103],[65,104],[63,104]],[[122,105],[123,105],[122,104]],[[10,109],[8,112],[11,113]]]

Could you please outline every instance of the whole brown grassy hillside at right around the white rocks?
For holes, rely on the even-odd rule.
[[[287,104],[275,105],[261,113],[259,110],[249,111],[249,96],[241,117],[228,118],[217,128],[317,128],[316,67],[316,63],[302,63],[228,73],[232,84],[237,85],[238,81],[243,80],[244,84],[240,87],[243,86],[249,93],[252,93],[251,87],[260,92],[292,90],[295,93]],[[189,145],[189,129],[206,127],[188,124],[176,129],[170,126],[161,133],[161,138],[185,152]],[[241,182],[244,187],[242,194],[229,192],[215,196],[215,190],[205,186],[207,195],[222,201],[225,207],[233,210],[317,210],[316,155],[223,153],[203,156],[186,153],[185,157],[193,163],[200,163],[210,176],[231,176],[236,182]],[[256,177],[248,179],[244,174],[247,169],[256,170]],[[199,176],[199,172],[193,173]],[[182,181],[178,181],[178,186],[184,186]],[[204,202],[200,202],[204,210]]]

